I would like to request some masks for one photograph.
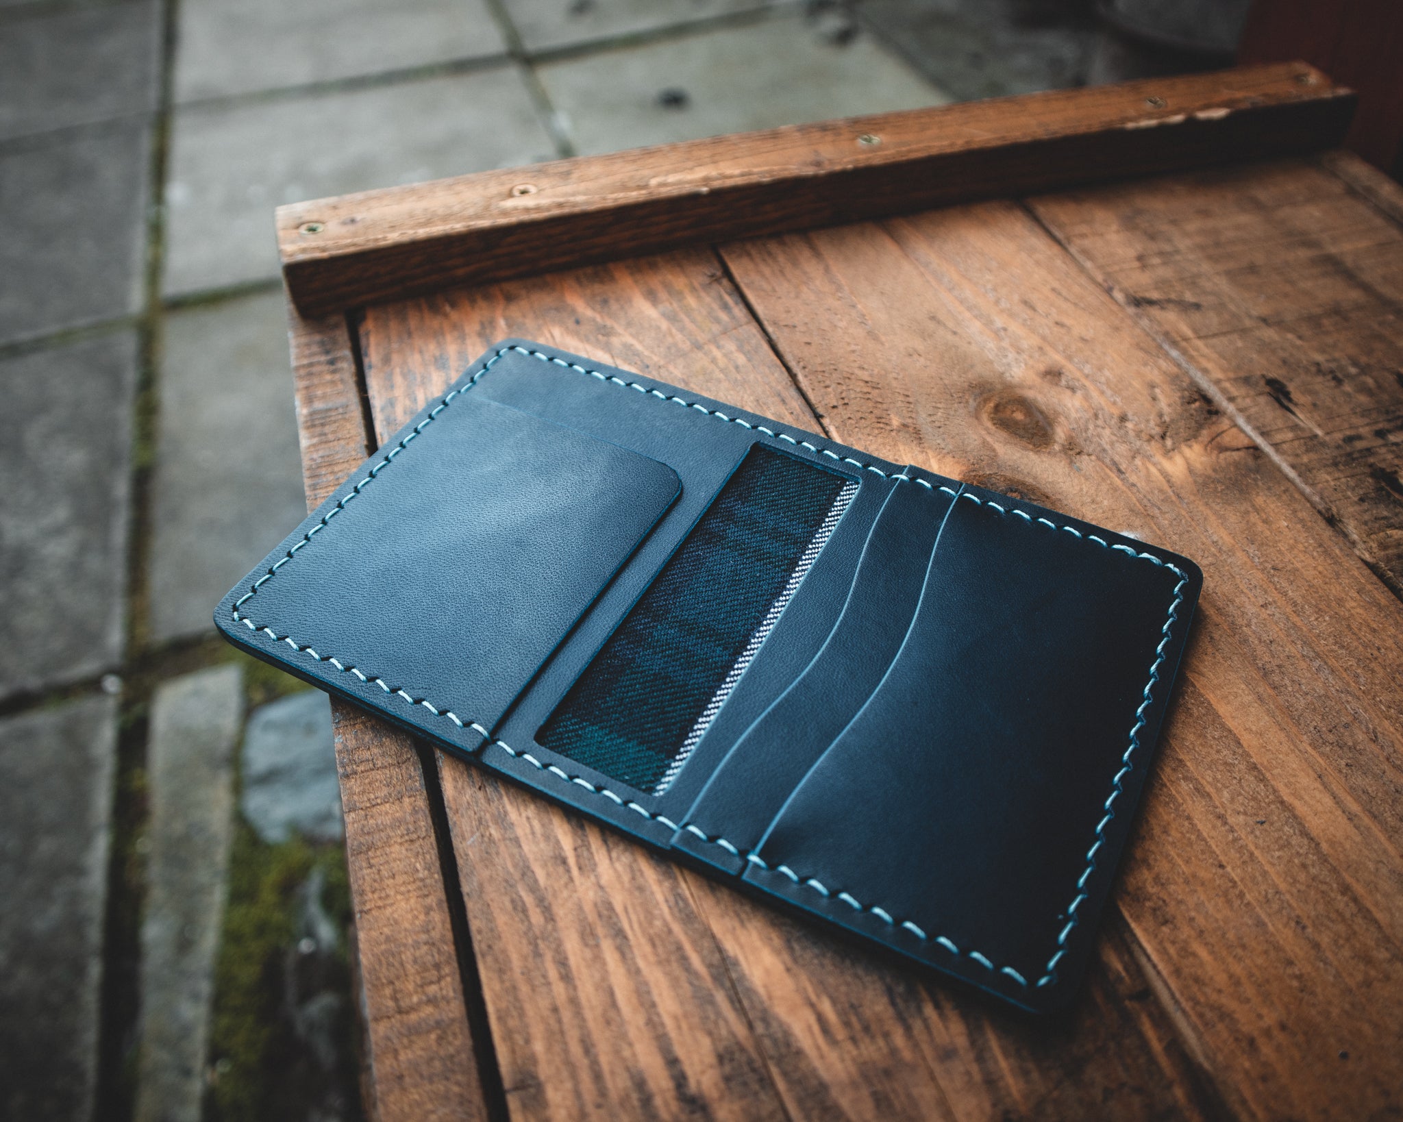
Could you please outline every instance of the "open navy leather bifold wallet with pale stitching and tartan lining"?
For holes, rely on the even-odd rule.
[[[508,341],[215,620],[648,846],[1047,1011],[1092,954],[1201,579]]]

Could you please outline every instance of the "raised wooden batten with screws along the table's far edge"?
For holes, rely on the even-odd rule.
[[[1301,63],[974,101],[537,164],[278,210],[306,314],[591,261],[1338,143]],[[860,137],[875,137],[863,143]]]

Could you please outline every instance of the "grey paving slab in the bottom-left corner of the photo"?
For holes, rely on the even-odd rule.
[[[87,1122],[116,701],[0,719],[0,1118]]]

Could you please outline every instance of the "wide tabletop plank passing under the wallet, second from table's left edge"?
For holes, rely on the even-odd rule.
[[[717,258],[687,251],[369,309],[377,429],[506,335],[817,424]],[[1124,935],[1072,1022],[1033,1027],[471,764],[441,773],[513,1116],[1211,1114]]]

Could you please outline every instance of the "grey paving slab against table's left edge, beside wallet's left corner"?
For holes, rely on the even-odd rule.
[[[166,316],[152,492],[157,641],[213,630],[234,581],[307,513],[281,292]]]

